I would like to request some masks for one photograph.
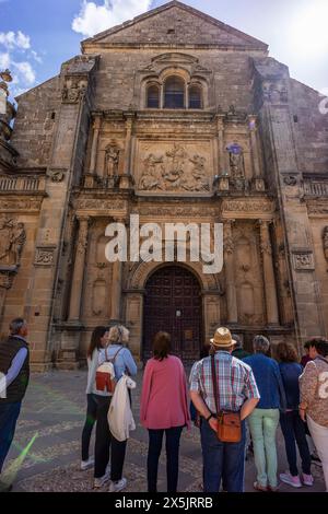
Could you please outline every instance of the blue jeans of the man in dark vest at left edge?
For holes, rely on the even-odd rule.
[[[21,406],[22,401],[16,404],[0,404],[0,472],[14,439]]]

